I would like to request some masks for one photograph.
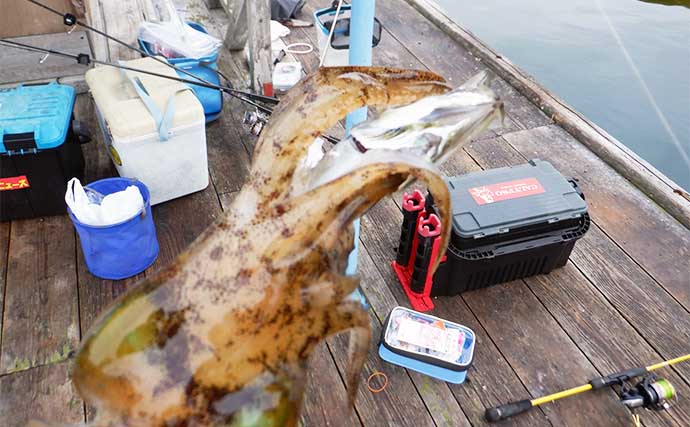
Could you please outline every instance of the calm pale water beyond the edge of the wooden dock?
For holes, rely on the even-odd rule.
[[[690,1],[435,1],[690,189]]]

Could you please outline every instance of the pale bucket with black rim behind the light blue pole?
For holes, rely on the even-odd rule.
[[[335,18],[336,11],[337,7],[329,7],[314,12],[314,28],[316,29],[316,40],[320,52],[323,52],[326,48],[328,34],[331,31],[331,24],[333,23],[333,18]],[[324,59],[323,66],[325,67],[337,67],[350,63],[350,13],[351,5],[344,4],[340,8],[336,29],[333,32],[333,38]],[[381,40],[381,31],[381,22],[374,18],[372,47],[378,46]]]

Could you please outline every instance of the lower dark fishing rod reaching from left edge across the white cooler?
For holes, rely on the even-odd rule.
[[[46,53],[46,54],[51,54],[51,55],[56,55],[56,56],[62,56],[62,57],[65,57],[65,58],[74,59],[78,64],[81,64],[81,65],[84,65],[84,66],[88,66],[89,64],[94,63],[94,64],[100,64],[100,65],[105,65],[105,66],[109,66],[109,67],[119,68],[119,69],[122,69],[122,70],[132,71],[132,72],[136,72],[136,73],[148,74],[148,75],[155,76],[155,77],[160,77],[160,78],[163,78],[163,79],[174,80],[174,81],[178,81],[178,82],[181,82],[181,83],[186,83],[186,84],[189,84],[189,85],[197,85],[197,86],[202,86],[202,87],[208,87],[208,88],[220,90],[220,91],[223,91],[223,92],[226,92],[226,93],[227,93],[227,91],[229,90],[229,88],[227,88],[227,87],[225,87],[225,86],[214,85],[214,84],[212,84],[212,83],[206,84],[206,83],[203,83],[203,82],[196,82],[196,81],[192,81],[192,80],[188,80],[188,79],[183,79],[183,78],[181,78],[181,77],[179,77],[179,76],[169,76],[169,75],[166,75],[166,74],[160,74],[160,73],[156,73],[156,72],[153,72],[153,71],[148,71],[148,70],[142,70],[142,69],[139,69],[139,68],[129,67],[129,66],[127,66],[127,65],[115,64],[115,63],[107,62],[107,61],[100,61],[100,60],[98,60],[98,59],[91,58],[91,57],[90,57],[88,54],[86,54],[86,53],[71,54],[71,53],[61,52],[61,51],[54,50],[54,49],[47,49],[47,48],[42,48],[42,47],[38,47],[38,46],[31,46],[31,45],[28,45],[28,44],[25,44],[25,43],[17,42],[17,41],[14,41],[14,40],[7,40],[7,39],[3,39],[3,38],[0,38],[0,45],[5,45],[5,46],[12,47],[12,48],[15,48],[15,49],[28,50],[28,51],[31,51],[31,52],[41,52],[41,53]],[[227,77],[225,77],[225,76],[222,76],[222,77],[225,78],[225,79],[227,80]],[[258,111],[261,111],[263,114],[265,114],[266,117],[263,118],[263,119],[261,119],[262,122],[263,122],[263,124],[265,124],[265,122],[268,120],[268,116],[270,116],[270,115],[273,113],[273,110],[272,110],[271,108],[268,108],[268,107],[266,107],[266,106],[263,106],[263,105],[261,105],[261,104],[258,104],[258,103],[254,102],[254,101],[252,101],[252,100],[250,100],[250,99],[247,99],[247,98],[245,98],[245,97],[243,97],[243,96],[240,96],[240,95],[233,95],[233,96],[234,96],[235,98],[241,100],[241,101],[246,102],[246,103],[249,104],[249,105],[252,105],[252,106],[255,107]],[[248,124],[254,125],[255,123],[256,123],[256,121],[254,121],[254,122],[252,122],[252,123],[248,123]],[[261,128],[263,128],[263,124],[258,128],[259,132],[260,132]],[[257,133],[258,133],[258,132],[257,132]],[[255,133],[255,134],[257,134],[257,133]],[[258,136],[258,135],[257,135],[257,136]],[[339,142],[339,139],[337,139],[337,138],[335,138],[335,137],[333,137],[333,136],[327,135],[327,134],[323,134],[323,135],[321,135],[321,137],[324,138],[325,140],[327,140],[328,142],[332,143],[332,144],[337,144],[337,143]]]

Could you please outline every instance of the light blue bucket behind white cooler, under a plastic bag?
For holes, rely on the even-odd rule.
[[[189,25],[197,31],[208,34],[206,28],[204,28],[204,26],[201,24],[197,24],[196,22],[187,22],[187,25]],[[151,50],[151,46],[149,45],[149,43],[139,40],[139,46],[141,46],[144,52],[148,53],[149,55],[153,55],[153,51]],[[194,74],[195,76],[198,76],[200,79],[204,81],[220,86],[220,77],[217,73],[218,52],[214,53],[213,55],[204,56],[198,59],[166,59],[170,64],[176,66],[177,68],[181,68],[185,71],[188,71]],[[181,73],[179,71],[177,72],[177,74],[183,79],[194,80],[194,78],[188,74]],[[190,87],[192,88],[194,94],[199,99],[199,102],[201,102],[201,105],[204,108],[204,116],[206,116],[206,122],[212,122],[213,120],[217,119],[218,116],[220,116],[221,111],[223,110],[223,94],[221,93],[221,91],[203,86],[190,85]]]

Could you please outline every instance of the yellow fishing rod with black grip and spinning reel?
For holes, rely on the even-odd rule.
[[[617,372],[615,374],[606,375],[604,377],[594,378],[587,384],[578,387],[573,387],[568,390],[563,390],[558,393],[549,394],[536,399],[524,399],[516,402],[506,403],[494,408],[486,410],[485,417],[487,421],[496,422],[505,420],[514,415],[527,412],[530,409],[550,403],[566,397],[575,396],[576,394],[584,393],[590,390],[600,390],[605,387],[619,386],[618,397],[621,403],[631,410],[637,408],[645,408],[652,410],[665,410],[670,407],[669,401],[676,396],[676,391],[673,385],[668,380],[657,378],[652,374],[652,371],[657,369],[672,366],[677,363],[686,362],[690,360],[690,354],[676,357],[675,359],[665,360],[663,362],[628,369],[627,371]],[[636,384],[629,384],[629,381],[642,377]],[[633,415],[636,423],[639,425],[639,416]]]

